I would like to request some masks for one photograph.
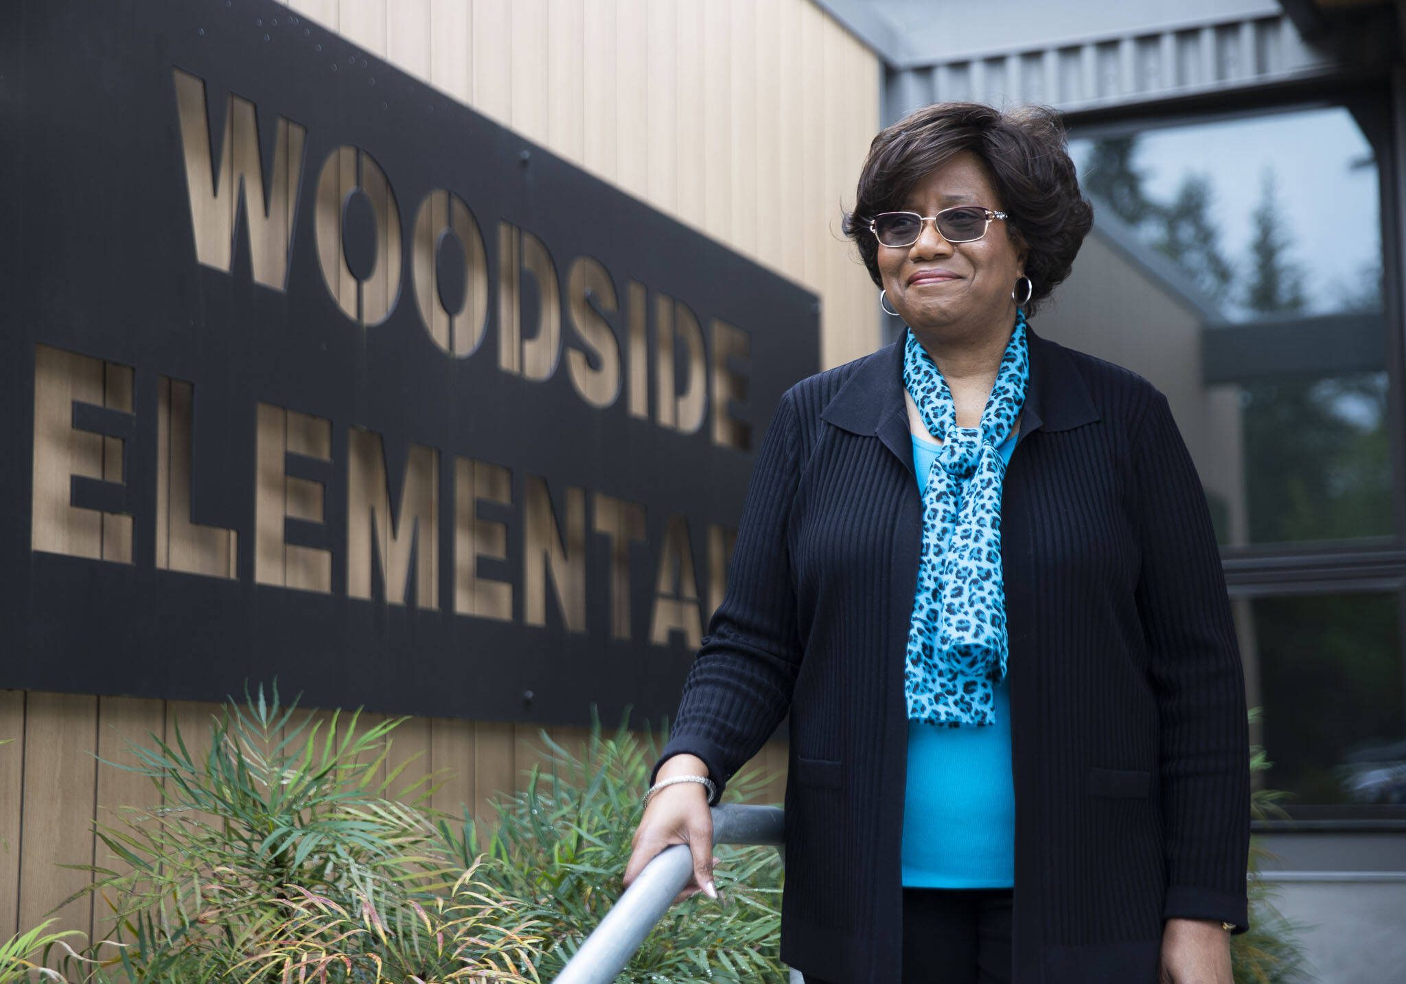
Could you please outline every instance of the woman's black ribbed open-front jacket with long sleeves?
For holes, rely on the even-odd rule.
[[[1154,984],[1163,919],[1249,928],[1244,678],[1211,514],[1166,396],[1029,333],[1001,498],[1017,984]],[[671,755],[721,787],[790,713],[782,959],[900,978],[922,514],[903,343],[782,396]]]

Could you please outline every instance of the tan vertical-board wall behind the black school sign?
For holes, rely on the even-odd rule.
[[[839,235],[841,208],[879,128],[875,56],[810,0],[299,0],[298,15],[648,201],[821,297],[821,364],[877,344],[876,291]],[[46,363],[56,402],[122,406],[129,378]],[[70,387],[72,391],[65,389]],[[176,399],[180,394],[170,394]],[[167,410],[167,416],[170,416]],[[172,419],[179,419],[172,417]],[[91,439],[91,440],[86,440]],[[179,434],[173,436],[180,440]],[[117,477],[117,448],[66,432],[52,474]],[[65,471],[66,470],[66,471]],[[157,477],[186,495],[187,475]],[[169,514],[170,510],[167,510]],[[97,514],[94,514],[97,516]],[[131,527],[35,517],[35,541],[131,562]],[[217,575],[232,544],[200,527],[159,538],[166,565]],[[82,540],[80,544],[73,538]],[[146,804],[148,780],[107,766],[124,738],[202,730],[214,704],[0,690],[0,938],[37,925],[84,874],[59,863],[104,862],[94,820]],[[581,728],[551,727],[571,745]],[[496,791],[520,787],[538,760],[537,725],[419,718],[395,732],[396,758],[422,755],[454,779],[434,805],[482,815]],[[785,769],[773,742],[759,759]],[[780,783],[772,787],[780,797]],[[63,928],[105,931],[87,898]]]

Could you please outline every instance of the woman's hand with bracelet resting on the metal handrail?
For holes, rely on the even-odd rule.
[[[658,782],[673,776],[706,776],[707,765],[696,755],[672,755],[659,768]],[[703,783],[675,783],[661,789],[650,798],[650,805],[640,818],[640,827],[630,842],[630,863],[624,869],[624,887],[628,888],[644,866],[654,860],[665,848],[675,843],[689,845],[693,853],[693,881],[673,897],[675,902],[697,893],[718,898],[713,887],[713,813],[707,805],[707,787]]]

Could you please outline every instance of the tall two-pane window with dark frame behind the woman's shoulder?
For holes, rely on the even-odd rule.
[[[1095,225],[1032,319],[1167,394],[1229,565],[1264,783],[1298,818],[1406,820],[1403,427],[1369,118],[1071,127]]]

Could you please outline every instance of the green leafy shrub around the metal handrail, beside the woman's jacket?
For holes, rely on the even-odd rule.
[[[465,813],[440,822],[443,842],[460,862],[486,852],[499,862],[485,880],[519,898],[546,926],[550,946],[537,973],[551,980],[623,894],[620,876],[640,822],[640,791],[648,784],[658,739],[627,727],[603,737],[592,724],[581,756],[540,731],[546,770],[533,766],[523,791],[494,801],[496,824],[479,829]],[[768,777],[747,768],[724,798],[755,800]],[[782,865],[775,848],[717,845],[718,904],[702,894],[673,905],[616,978],[627,984],[785,980],[780,963]]]

